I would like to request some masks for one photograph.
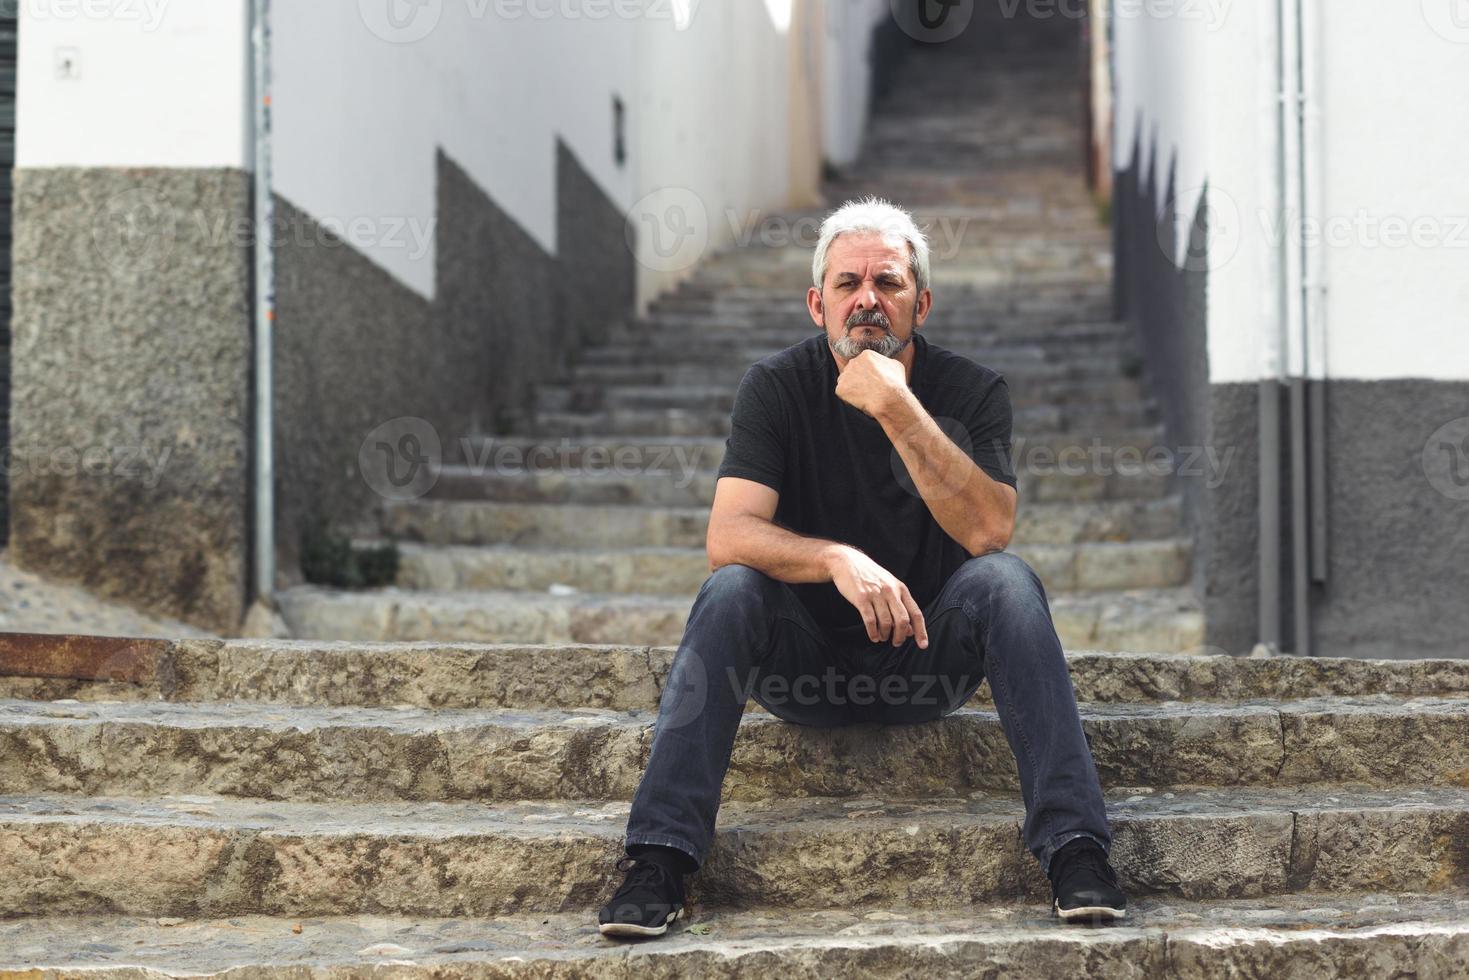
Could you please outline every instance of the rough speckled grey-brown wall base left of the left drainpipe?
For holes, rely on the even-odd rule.
[[[15,175],[10,557],[207,627],[245,602],[248,176]]]

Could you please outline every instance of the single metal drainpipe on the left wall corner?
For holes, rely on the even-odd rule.
[[[273,605],[275,597],[275,404],[272,356],[275,350],[275,256],[270,234],[275,204],[270,197],[270,0],[251,0],[250,47],[254,103],[254,585],[256,599]]]

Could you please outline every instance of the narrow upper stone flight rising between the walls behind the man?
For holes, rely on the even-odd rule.
[[[889,194],[931,225],[923,331],[1009,381],[1011,550],[1046,582],[1062,642],[1197,649],[1191,541],[1171,466],[1147,455],[1163,433],[1136,338],[1111,319],[1109,231],[1078,170],[1069,65],[1056,71],[1053,44],[930,57],[878,106],[861,165],[829,198]],[[542,385],[523,432],[451,441],[429,494],[383,507],[382,533],[403,542],[397,588],[291,589],[291,635],[676,645],[708,574],[739,379],[817,331],[812,242],[795,231],[823,215],[768,216],[790,244],[711,256]]]

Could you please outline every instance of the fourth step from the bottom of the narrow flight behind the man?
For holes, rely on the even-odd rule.
[[[895,467],[900,461],[892,450]],[[1014,460],[1014,448],[1011,451]],[[1036,454],[1034,467],[1018,469],[1017,489],[1022,501],[1065,502],[1100,500],[1158,500],[1175,489],[1163,461],[1152,472],[1141,464],[1125,472],[1099,466],[1084,472],[1078,458],[1065,470],[1059,461]],[[1047,460],[1050,460],[1047,463]],[[1022,457],[1025,461],[1025,457]],[[717,472],[676,470],[635,473],[588,473],[567,470],[483,469],[479,466],[441,466],[426,497],[433,500],[488,500],[526,504],[629,504],[655,507],[710,507],[718,483]],[[1083,472],[1071,472],[1083,470]]]

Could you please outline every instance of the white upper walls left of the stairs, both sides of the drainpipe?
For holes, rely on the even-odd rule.
[[[868,31],[870,7],[884,3],[856,4]],[[98,4],[115,16],[84,15]],[[751,216],[808,197],[809,187],[793,190],[792,162],[820,153],[827,125],[859,132],[859,118],[842,113],[865,106],[833,118],[815,104],[820,87],[792,84],[809,68],[793,59],[793,4],[846,12],[845,0],[276,1],[273,187],[430,297],[435,150],[555,253],[561,138],[635,225],[667,225],[670,197],[704,215],[696,247],[671,259],[639,239],[646,301]],[[26,0],[21,10],[19,166],[248,166],[247,0]],[[861,19],[843,22],[856,31]],[[54,79],[60,48],[76,50],[81,78]],[[840,54],[843,85],[865,93],[865,68]],[[614,94],[627,119],[621,167]],[[809,132],[792,132],[793,98],[820,120]],[[801,138],[809,145],[798,154]]]

